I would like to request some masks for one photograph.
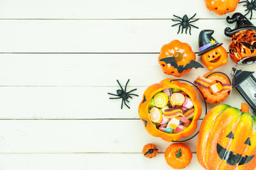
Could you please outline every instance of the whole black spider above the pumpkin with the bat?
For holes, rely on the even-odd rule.
[[[193,26],[191,23],[193,23],[193,22],[195,22],[195,21],[198,21],[198,19],[196,19],[196,20],[194,20],[194,21],[191,21],[191,19],[193,18],[193,17],[195,17],[196,16],[196,13],[195,13],[195,15],[193,15],[191,18],[188,18],[188,16],[185,14],[185,16],[183,16],[183,18],[181,18],[181,17],[179,17],[179,16],[176,16],[176,15],[174,15],[176,18],[179,18],[179,19],[181,19],[181,20],[176,20],[176,19],[171,19],[172,21],[178,21],[178,22],[180,22],[180,23],[176,23],[176,24],[174,24],[174,25],[172,25],[172,27],[173,26],[177,26],[177,25],[179,25],[178,26],[178,33],[179,33],[179,31],[181,30],[181,33],[183,33],[183,29],[184,28],[186,28],[186,33],[187,33],[187,30],[188,30],[188,28],[189,28],[189,34],[191,35],[191,26]],[[182,26],[182,28],[181,28],[181,26]],[[194,28],[198,28],[198,27],[196,27],[196,26],[193,26]]]

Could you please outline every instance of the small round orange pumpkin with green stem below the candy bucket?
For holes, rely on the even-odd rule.
[[[183,143],[173,143],[167,147],[164,154],[166,163],[173,169],[183,169],[191,163],[191,149]]]

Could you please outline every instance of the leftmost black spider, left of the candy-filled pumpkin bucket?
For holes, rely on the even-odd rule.
[[[127,84],[129,82],[129,79],[127,81]],[[126,91],[127,89],[127,84],[125,85],[124,89],[122,88],[121,84],[119,83],[119,81],[117,80],[117,83],[119,84],[119,86],[121,87],[121,89],[118,89],[117,90],[117,94],[110,94],[110,93],[107,93],[107,94],[110,94],[110,95],[113,95],[113,96],[118,96],[117,98],[110,98],[110,99],[118,99],[118,98],[122,98],[122,105],[121,105],[121,109],[122,109],[122,106],[123,106],[123,103],[125,104],[125,106],[127,106],[127,108],[129,108],[129,106],[127,105],[126,101],[129,103],[128,101],[128,98],[132,98],[131,96],[139,96],[137,94],[130,94],[132,91],[136,91],[137,89],[132,89],[131,91]]]

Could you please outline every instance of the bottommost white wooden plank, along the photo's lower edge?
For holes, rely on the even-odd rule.
[[[142,154],[0,154],[0,159],[1,170],[172,169],[166,164],[164,154],[158,154],[154,159],[146,159]],[[186,169],[203,170],[196,154]]]

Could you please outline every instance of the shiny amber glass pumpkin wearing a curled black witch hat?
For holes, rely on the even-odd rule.
[[[232,18],[226,18],[228,23],[237,22],[235,29],[225,28],[225,35],[232,37],[230,42],[230,57],[237,64],[252,64],[256,62],[256,27],[242,16],[234,13]]]

